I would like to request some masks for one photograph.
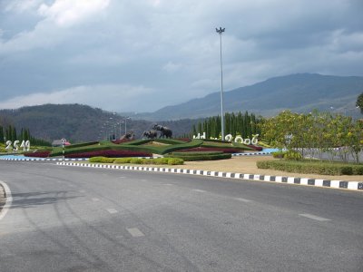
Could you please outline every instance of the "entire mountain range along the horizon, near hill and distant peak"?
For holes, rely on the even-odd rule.
[[[318,109],[360,116],[355,102],[362,92],[363,77],[291,74],[225,92],[224,112],[248,111],[268,117],[287,109],[292,112]],[[220,99],[220,92],[213,92],[156,112],[139,114],[115,114],[80,104],[45,104],[0,110],[0,125],[11,124],[18,130],[28,128],[35,138],[46,141],[61,138],[94,141],[110,134],[120,137],[124,121],[127,131],[134,131],[137,138],[155,122],[170,127],[174,136],[182,136],[204,117],[220,115]],[[125,116],[131,119],[125,120]]]

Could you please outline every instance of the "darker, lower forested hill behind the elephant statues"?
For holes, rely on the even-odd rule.
[[[80,104],[45,104],[23,107],[16,110],[0,110],[0,125],[29,128],[32,135],[46,141],[65,138],[75,141],[95,141],[106,138],[106,134],[120,137],[124,133],[124,116],[105,112]],[[161,121],[170,127],[175,136],[191,131],[196,121]],[[121,125],[120,125],[121,123]],[[142,131],[152,128],[155,121],[127,120],[127,131],[134,131],[140,138]]]

